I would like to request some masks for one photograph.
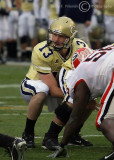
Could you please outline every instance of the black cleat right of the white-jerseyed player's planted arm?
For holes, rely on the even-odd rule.
[[[74,135],[68,145],[74,145],[74,146],[93,146],[93,144],[91,142],[89,142],[88,140],[83,139],[80,135]]]

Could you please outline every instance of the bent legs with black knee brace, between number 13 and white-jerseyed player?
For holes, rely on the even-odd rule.
[[[44,149],[55,150],[58,146],[58,135],[61,132],[64,125],[67,123],[70,114],[72,112],[72,98],[67,94],[66,88],[66,76],[70,75],[70,71],[67,72],[64,68],[61,69],[59,74],[59,83],[60,87],[65,95],[64,103],[60,104],[55,109],[55,115],[53,121],[50,124],[50,128],[48,132],[45,134],[42,147]],[[93,144],[80,136],[80,131],[83,124],[75,129],[75,133],[69,141],[70,145],[84,145],[84,146],[92,146]]]

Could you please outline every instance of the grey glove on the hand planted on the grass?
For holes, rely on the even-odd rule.
[[[67,153],[67,149],[66,148],[62,148],[60,146],[58,146],[58,148],[56,149],[56,151],[47,156],[48,158],[57,158],[57,157],[69,157],[68,153]]]

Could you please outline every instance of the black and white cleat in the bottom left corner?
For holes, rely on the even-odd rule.
[[[8,148],[11,160],[24,160],[24,152],[26,149],[26,142],[22,139],[15,138],[12,147]]]

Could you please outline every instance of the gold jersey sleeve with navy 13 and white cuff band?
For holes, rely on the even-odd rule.
[[[32,65],[34,69],[43,74],[51,73],[51,61],[53,52],[48,49],[46,44],[40,43],[34,47],[32,53]]]

